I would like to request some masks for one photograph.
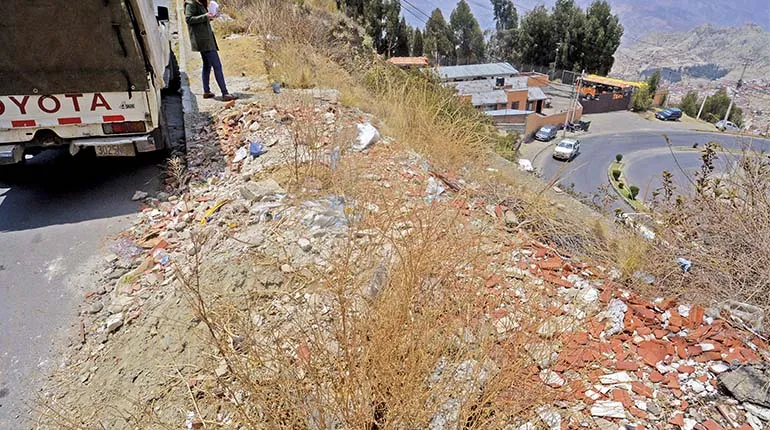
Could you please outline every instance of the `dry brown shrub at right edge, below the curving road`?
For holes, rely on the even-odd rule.
[[[687,297],[709,304],[733,299],[768,312],[770,162],[749,148],[731,154],[707,145],[700,170],[683,190],[664,175],[654,208],[666,244],[656,248],[645,269],[658,284]],[[719,159],[728,166],[722,174],[715,170]],[[679,269],[677,257],[693,262],[690,273]]]

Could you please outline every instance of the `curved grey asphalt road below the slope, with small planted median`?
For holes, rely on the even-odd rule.
[[[671,148],[666,145],[664,133],[671,141]],[[750,145],[752,150],[770,152],[768,140],[748,140],[721,133],[628,132],[595,136],[585,134],[577,135],[576,138],[581,142],[580,154],[572,161],[554,160],[551,157],[553,149],[549,147],[534,160],[534,166],[544,179],[558,177],[563,187],[574,185],[575,191],[589,197],[608,184],[608,169],[616,154],[623,154],[624,174],[629,182],[641,189],[640,195],[644,197],[660,186],[663,171],[674,174],[680,190],[687,188],[688,182],[683,171],[692,177],[692,172],[700,167],[700,152],[692,149],[695,143],[698,148],[715,141],[727,149],[739,150]],[[559,140],[557,138],[553,143]],[[717,170],[724,170],[728,165],[727,160],[732,158],[729,154],[720,153]],[[621,203],[618,205],[624,206]]]

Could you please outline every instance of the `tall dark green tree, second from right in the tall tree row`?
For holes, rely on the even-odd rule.
[[[557,0],[551,15],[552,44],[559,47],[556,67],[572,70],[582,62],[585,14],[574,0]]]

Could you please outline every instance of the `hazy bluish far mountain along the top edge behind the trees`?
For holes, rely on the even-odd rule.
[[[482,28],[494,27],[492,6],[488,0],[467,0]],[[583,7],[592,0],[577,0]],[[538,4],[553,6],[554,0],[514,0],[523,15]],[[736,27],[745,24],[761,25],[770,30],[770,1],[768,0],[609,0],[612,9],[620,15],[629,43],[633,38],[652,32],[680,32],[710,23],[718,27]],[[404,16],[418,27],[427,20],[421,12],[430,15],[437,7],[449,19],[456,0],[402,0]],[[410,6],[414,5],[414,8]],[[418,10],[416,10],[416,9]]]

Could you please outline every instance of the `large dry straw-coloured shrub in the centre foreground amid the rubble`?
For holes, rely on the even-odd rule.
[[[381,202],[383,205],[385,202]],[[383,206],[385,207],[385,206]],[[499,338],[485,312],[478,232],[441,208],[383,210],[340,241],[328,270],[228,294],[187,277],[248,428],[502,428],[548,403],[521,331]],[[365,233],[355,233],[365,232]],[[259,255],[248,265],[267,268]],[[216,362],[215,362],[216,363]],[[216,364],[214,364],[214,367]]]

